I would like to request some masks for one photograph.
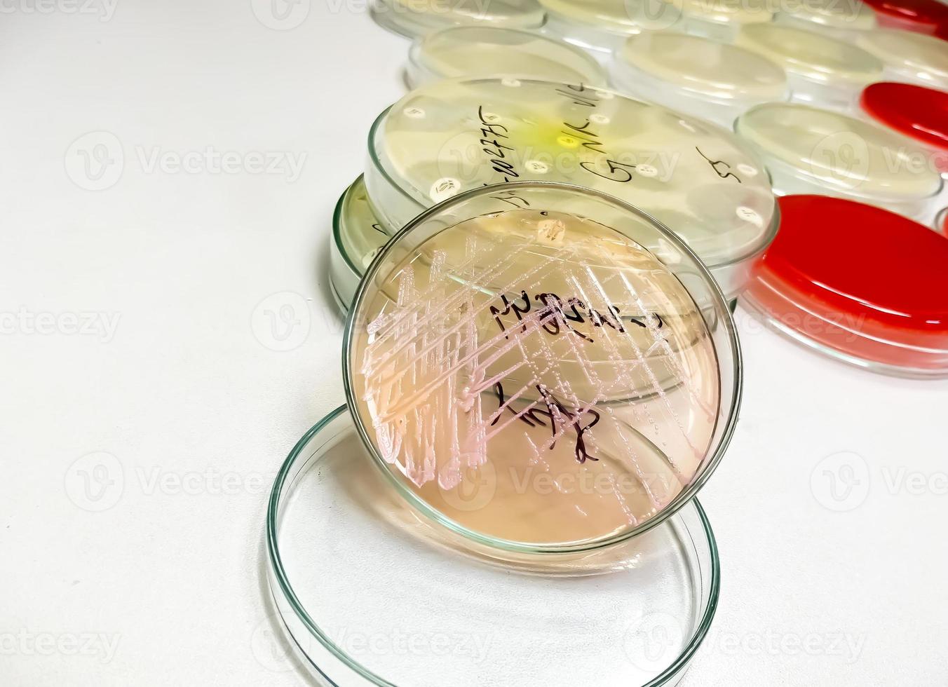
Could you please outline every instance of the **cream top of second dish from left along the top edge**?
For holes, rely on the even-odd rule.
[[[550,14],[608,33],[633,35],[671,27],[681,12],[665,0],[539,0]]]

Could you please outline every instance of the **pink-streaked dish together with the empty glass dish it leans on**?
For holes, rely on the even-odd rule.
[[[741,396],[728,304],[678,235],[600,190],[465,190],[375,256],[342,364],[346,405],[266,518],[303,669],[678,684],[720,592],[695,496]]]

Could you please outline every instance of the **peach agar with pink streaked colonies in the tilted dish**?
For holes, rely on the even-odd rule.
[[[682,282],[610,226],[494,212],[396,246],[368,283],[356,412],[406,488],[468,530],[595,541],[700,470],[720,409],[711,335]]]

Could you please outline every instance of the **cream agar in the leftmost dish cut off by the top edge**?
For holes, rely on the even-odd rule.
[[[439,24],[483,24],[493,27],[529,28],[543,22],[537,0],[384,0],[385,11],[422,15]]]

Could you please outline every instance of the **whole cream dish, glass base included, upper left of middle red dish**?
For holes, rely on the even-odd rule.
[[[851,110],[863,88],[883,78],[883,63],[866,50],[801,28],[744,27],[735,44],[782,66],[796,102]]]

